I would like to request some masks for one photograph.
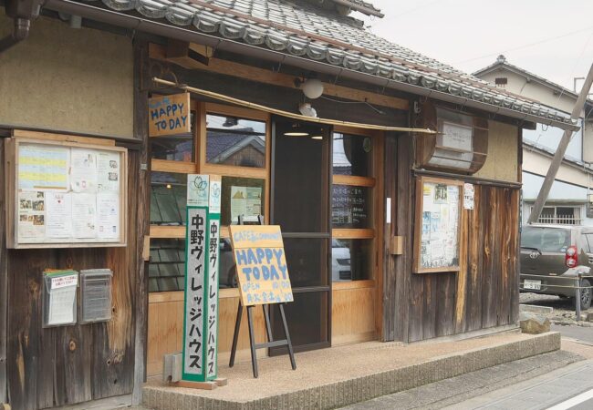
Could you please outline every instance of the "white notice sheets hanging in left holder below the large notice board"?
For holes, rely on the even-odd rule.
[[[48,325],[74,322],[77,284],[78,274],[51,278],[47,313]]]

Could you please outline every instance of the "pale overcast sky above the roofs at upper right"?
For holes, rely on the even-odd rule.
[[[593,64],[593,0],[367,0],[383,18],[370,31],[467,73],[504,54],[573,89]],[[577,83],[577,89],[582,80]]]

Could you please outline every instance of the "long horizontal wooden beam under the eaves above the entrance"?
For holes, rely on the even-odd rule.
[[[197,46],[197,45],[195,45]],[[194,45],[190,45],[193,49]],[[178,62],[167,58],[167,49],[165,46],[151,44],[149,46],[149,56],[155,60],[166,61],[173,64]],[[242,77],[252,81],[270,84],[273,86],[296,88],[295,76],[290,76],[283,73],[276,73],[264,68],[245,66],[244,64],[235,63],[234,61],[222,60],[219,58],[210,58],[208,66],[204,66],[197,61],[187,62],[188,69],[196,69],[202,71],[212,71],[226,76]],[[401,110],[408,110],[408,100],[398,97],[384,96],[369,91],[362,91],[356,88],[337,86],[331,83],[323,83],[323,93],[329,97],[338,97],[349,99],[352,101],[366,101],[369,104],[374,104],[381,107],[396,108]]]

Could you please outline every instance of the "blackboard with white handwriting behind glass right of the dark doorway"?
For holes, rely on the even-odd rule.
[[[331,223],[334,228],[368,228],[369,189],[334,185],[332,187]]]

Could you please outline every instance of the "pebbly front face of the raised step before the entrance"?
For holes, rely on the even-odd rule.
[[[178,393],[172,388],[145,386],[143,405],[159,410],[218,409],[218,410],[274,410],[274,409],[331,409],[370,400],[381,395],[409,390],[461,374],[467,374],[513,362],[526,357],[560,349],[560,333],[534,335],[525,340],[499,343],[462,353],[439,356],[420,364],[368,374],[342,382],[256,399],[250,402],[225,401],[199,395]]]

